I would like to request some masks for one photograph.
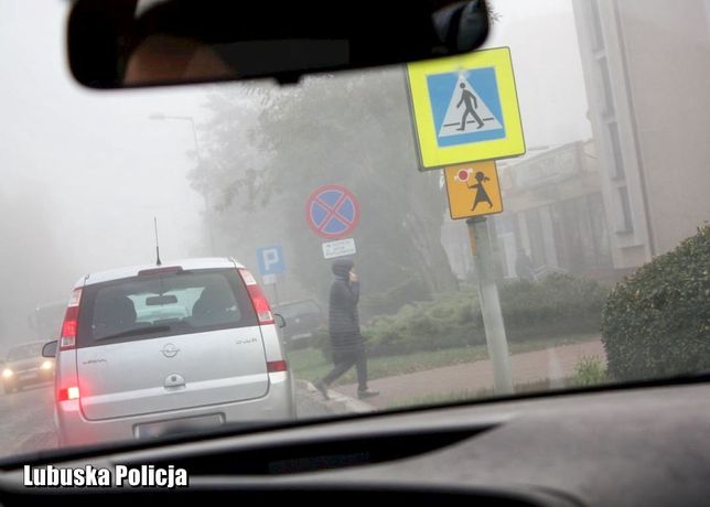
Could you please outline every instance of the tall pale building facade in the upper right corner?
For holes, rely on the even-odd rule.
[[[710,219],[710,2],[574,0],[614,267]]]

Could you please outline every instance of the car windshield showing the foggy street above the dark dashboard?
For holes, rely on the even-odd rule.
[[[709,370],[707,0],[126,90],[72,77],[71,3],[0,0],[0,355],[58,338],[54,384],[2,370],[1,456]]]

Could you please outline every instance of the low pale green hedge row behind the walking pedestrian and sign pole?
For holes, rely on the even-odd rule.
[[[501,305],[510,342],[596,332],[607,290],[599,283],[566,274],[540,282],[516,281],[501,288]],[[410,354],[485,344],[485,332],[475,289],[433,301],[411,303],[363,326],[372,356]],[[315,345],[330,357],[325,330]]]

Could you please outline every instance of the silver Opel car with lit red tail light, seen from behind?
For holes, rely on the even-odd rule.
[[[275,315],[234,259],[88,274],[58,350],[52,342],[43,354],[56,357],[62,445],[295,417]]]

